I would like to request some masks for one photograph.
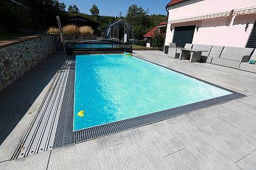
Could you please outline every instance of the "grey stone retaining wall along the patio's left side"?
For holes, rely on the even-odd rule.
[[[50,34],[4,48],[0,46],[0,91],[54,52],[56,45]]]

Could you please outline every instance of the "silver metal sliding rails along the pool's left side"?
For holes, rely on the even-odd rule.
[[[55,74],[51,86],[36,113],[36,117],[20,142],[12,159],[19,159],[52,150],[71,64],[70,58],[71,56],[67,57],[63,66]]]

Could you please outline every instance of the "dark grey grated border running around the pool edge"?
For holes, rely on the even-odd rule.
[[[136,56],[134,56],[136,57]],[[137,57],[141,59],[140,57]],[[142,59],[145,60],[145,59]],[[150,62],[148,60],[145,60]],[[151,62],[156,64],[154,62]],[[180,71],[176,71],[170,69],[168,67],[161,66],[156,64],[157,66],[164,67],[166,69],[170,69],[180,74],[184,74],[191,78],[195,78],[198,81],[202,81],[204,83],[208,83],[214,87],[218,87],[223,90],[227,90],[232,92],[227,96],[216,97],[213,99],[208,99],[205,101],[200,101],[197,103],[187,104],[185,106],[179,106],[177,108],[172,108],[163,111],[157,111],[155,113],[150,113],[148,115],[142,115],[140,117],[129,118],[126,120],[120,120],[118,122],[113,122],[109,124],[99,125],[97,127],[90,127],[87,129],[81,129],[79,131],[73,131],[73,117],[74,117],[74,81],[75,81],[75,69],[76,62],[75,57],[72,57],[72,69],[70,69],[67,80],[67,87],[65,89],[65,96],[63,99],[63,104],[61,106],[60,119],[58,122],[58,127],[54,139],[53,148],[60,148],[63,146],[72,145],[75,143],[80,143],[83,141],[88,141],[90,139],[99,138],[102,136],[106,136],[109,134],[114,134],[117,132],[127,131],[129,129],[133,129],[136,127],[141,127],[143,125],[152,124],[154,122],[159,122],[161,120],[166,120],[168,118],[177,117],[179,115],[184,115],[185,113],[189,113],[191,111],[199,110],[201,108],[207,108],[209,106],[213,106],[220,103],[225,103],[230,100],[238,99],[240,97],[245,97],[244,94],[240,94],[230,89],[226,89],[220,87],[219,85],[215,85],[213,83],[209,83],[207,81],[201,80],[199,78],[195,78],[188,74],[181,73]]]

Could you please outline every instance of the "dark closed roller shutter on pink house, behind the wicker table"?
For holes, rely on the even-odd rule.
[[[175,27],[173,43],[177,46],[184,47],[186,43],[192,43],[196,25]]]

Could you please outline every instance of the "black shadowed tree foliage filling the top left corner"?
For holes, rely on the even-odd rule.
[[[2,19],[0,27],[3,25],[7,31],[10,28],[42,31],[49,26],[57,25],[57,15],[60,18],[67,17],[67,13],[61,11],[58,0],[17,0],[17,2],[21,5],[10,0],[0,0],[0,18]],[[4,16],[1,13],[4,13]]]

